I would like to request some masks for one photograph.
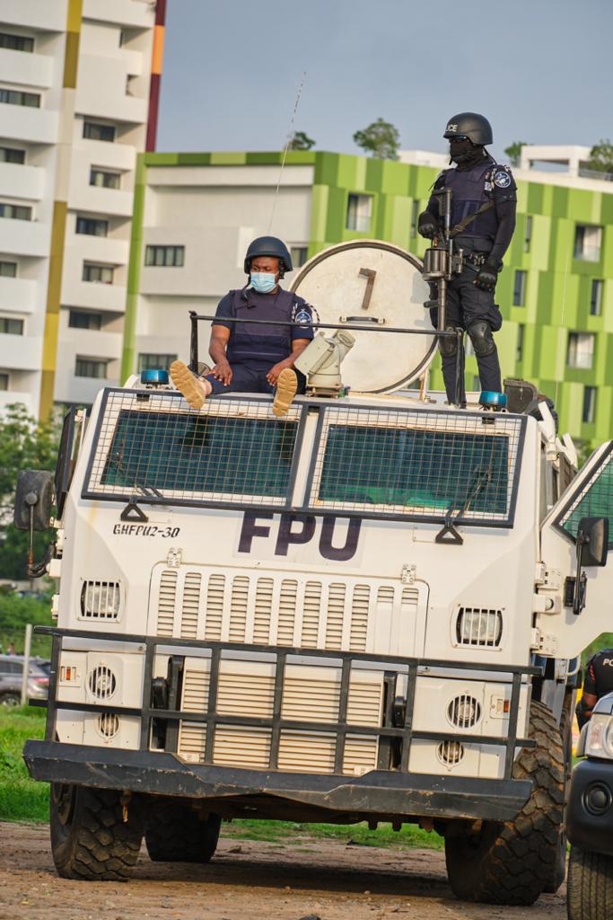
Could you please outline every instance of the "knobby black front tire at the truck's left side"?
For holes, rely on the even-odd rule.
[[[127,821],[115,789],[51,783],[51,853],[62,879],[127,881],[142,843],[142,807],[132,799]]]

